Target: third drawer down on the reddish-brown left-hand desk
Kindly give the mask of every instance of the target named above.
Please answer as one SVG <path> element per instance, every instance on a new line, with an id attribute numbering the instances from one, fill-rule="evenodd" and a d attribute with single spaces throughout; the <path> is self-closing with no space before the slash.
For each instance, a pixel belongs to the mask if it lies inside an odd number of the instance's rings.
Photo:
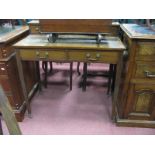
<path id="1" fill-rule="evenodd" d="M 3 87 L 5 92 L 11 92 L 11 85 L 7 77 L 0 77 L 0 84 Z"/>

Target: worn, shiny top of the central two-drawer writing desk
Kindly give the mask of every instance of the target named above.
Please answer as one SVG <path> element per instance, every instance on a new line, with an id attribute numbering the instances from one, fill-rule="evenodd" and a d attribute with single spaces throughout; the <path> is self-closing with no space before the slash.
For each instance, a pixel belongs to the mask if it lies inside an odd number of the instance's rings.
<path id="1" fill-rule="evenodd" d="M 49 43 L 47 35 L 29 35 L 14 44 L 15 48 L 60 48 L 60 49 L 96 49 L 96 50 L 124 50 L 125 46 L 118 37 L 105 37 L 100 44 L 96 44 L 94 36 L 60 35 L 55 43 Z M 74 37 L 74 38 L 73 38 Z"/>

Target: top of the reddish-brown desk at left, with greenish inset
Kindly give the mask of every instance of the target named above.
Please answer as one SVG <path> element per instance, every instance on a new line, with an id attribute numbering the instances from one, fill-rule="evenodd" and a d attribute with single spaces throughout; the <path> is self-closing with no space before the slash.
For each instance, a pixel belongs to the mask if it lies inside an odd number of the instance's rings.
<path id="1" fill-rule="evenodd" d="M 0 44 L 8 43 L 28 30 L 28 26 L 15 26 L 14 29 L 11 26 L 0 27 Z"/>

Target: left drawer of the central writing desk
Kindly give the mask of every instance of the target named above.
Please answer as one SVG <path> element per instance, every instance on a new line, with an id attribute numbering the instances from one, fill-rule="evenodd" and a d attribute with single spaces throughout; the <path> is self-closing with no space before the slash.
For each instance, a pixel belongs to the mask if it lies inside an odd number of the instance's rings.
<path id="1" fill-rule="evenodd" d="M 66 52 L 60 50 L 20 50 L 20 56 L 23 60 L 67 60 Z"/>

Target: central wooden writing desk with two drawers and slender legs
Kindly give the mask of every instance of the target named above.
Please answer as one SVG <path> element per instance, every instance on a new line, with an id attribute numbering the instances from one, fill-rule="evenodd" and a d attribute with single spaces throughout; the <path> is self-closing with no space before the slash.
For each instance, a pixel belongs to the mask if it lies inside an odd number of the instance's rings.
<path id="1" fill-rule="evenodd" d="M 63 62 L 95 62 L 117 64 L 116 84 L 113 95 L 112 113 L 115 116 L 115 105 L 118 101 L 120 75 L 122 71 L 124 45 L 118 37 L 105 37 L 100 44 L 91 36 L 61 36 L 55 43 L 49 43 L 46 35 L 29 35 L 14 45 L 17 64 L 28 113 L 31 108 L 24 81 L 22 61 L 63 61 Z M 95 104 L 95 103 L 94 103 Z M 119 107 L 118 107 L 119 108 Z"/>

